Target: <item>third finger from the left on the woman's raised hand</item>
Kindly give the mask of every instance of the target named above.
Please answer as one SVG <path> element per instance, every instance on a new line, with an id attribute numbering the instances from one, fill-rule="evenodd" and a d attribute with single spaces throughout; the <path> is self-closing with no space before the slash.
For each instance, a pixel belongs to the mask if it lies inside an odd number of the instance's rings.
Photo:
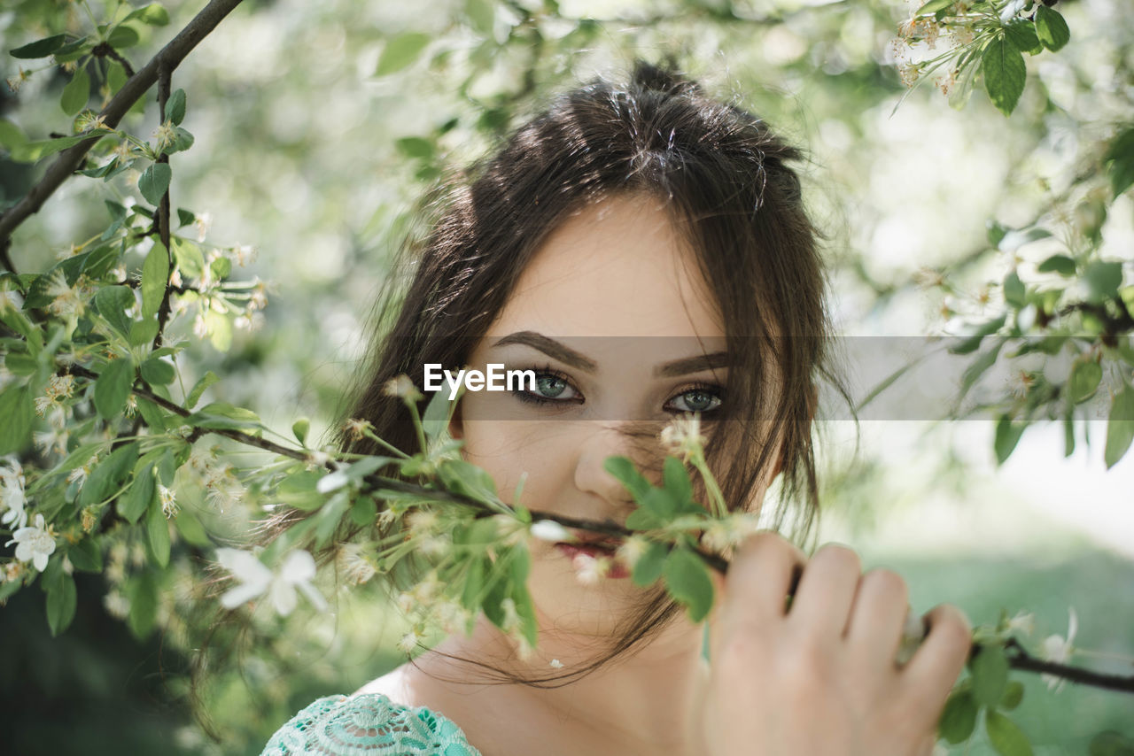
<path id="1" fill-rule="evenodd" d="M 847 622 L 847 644 L 869 669 L 892 664 L 909 611 L 909 589 L 897 572 L 873 569 L 862 576 Z"/>

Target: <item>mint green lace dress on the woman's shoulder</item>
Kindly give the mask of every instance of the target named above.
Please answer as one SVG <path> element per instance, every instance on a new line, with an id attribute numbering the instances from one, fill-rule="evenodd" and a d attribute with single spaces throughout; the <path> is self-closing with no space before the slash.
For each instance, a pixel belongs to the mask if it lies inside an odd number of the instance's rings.
<path id="1" fill-rule="evenodd" d="M 324 696 L 281 727 L 260 756 L 481 756 L 450 720 L 380 693 Z"/>

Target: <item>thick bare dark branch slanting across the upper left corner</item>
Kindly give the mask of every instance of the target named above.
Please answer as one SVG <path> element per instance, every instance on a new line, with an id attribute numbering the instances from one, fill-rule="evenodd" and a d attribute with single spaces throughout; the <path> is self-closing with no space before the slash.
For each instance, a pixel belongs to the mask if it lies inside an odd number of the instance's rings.
<path id="1" fill-rule="evenodd" d="M 160 69 L 172 71 L 181 60 L 197 45 L 228 14 L 240 5 L 240 0 L 211 0 L 169 44 L 161 49 L 150 62 L 127 79 L 99 116 L 103 122 L 116 128 L 122 116 L 137 102 L 158 80 Z M 48 197 L 54 194 L 64 181 L 82 164 L 83 158 L 101 138 L 102 134 L 93 134 L 85 139 L 59 153 L 39 184 L 32 187 L 27 195 L 14 207 L 0 215 L 0 249 L 6 249 L 12 231 L 25 220 L 40 211 Z M 5 264 L 8 264 L 5 260 Z M 8 270 L 11 270 L 9 266 Z"/>

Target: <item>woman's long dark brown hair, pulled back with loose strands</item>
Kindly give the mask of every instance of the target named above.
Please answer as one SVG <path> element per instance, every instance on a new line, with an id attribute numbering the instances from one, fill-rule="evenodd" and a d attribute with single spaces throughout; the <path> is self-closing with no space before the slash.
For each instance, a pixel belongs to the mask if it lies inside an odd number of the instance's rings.
<path id="1" fill-rule="evenodd" d="M 778 466 L 772 521 L 781 526 L 794 513 L 797 534 L 806 535 L 819 508 L 812 418 L 830 329 L 822 236 L 789 167 L 802 158 L 759 117 L 709 96 L 672 62 L 636 61 L 625 84 L 600 78 L 560 94 L 418 209 L 432 214 L 430 230 L 403 247 L 408 286 L 395 283 L 383 297 L 349 417 L 417 451 L 411 418 L 383 391 L 387 382 L 406 374 L 420 389 L 425 363 L 464 365 L 553 229 L 587 203 L 645 193 L 679 221 L 723 317 L 723 418 L 737 422 L 714 424 L 706 457 L 726 501 L 751 506 Z M 773 385 L 779 390 L 769 391 Z M 350 450 L 382 453 L 365 442 Z M 660 592 L 651 595 L 593 663 L 525 681 L 569 681 L 636 646 L 675 611 Z"/>

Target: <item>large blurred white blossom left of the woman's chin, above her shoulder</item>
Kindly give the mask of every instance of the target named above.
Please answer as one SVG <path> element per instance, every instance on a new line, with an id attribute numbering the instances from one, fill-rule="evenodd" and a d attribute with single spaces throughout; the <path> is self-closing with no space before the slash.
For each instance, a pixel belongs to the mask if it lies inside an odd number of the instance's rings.
<path id="1" fill-rule="evenodd" d="M 299 588 L 315 609 L 327 610 L 327 602 L 311 585 L 312 578 L 315 577 L 315 560 L 306 551 L 293 551 L 288 554 L 278 574 L 272 572 L 251 551 L 218 549 L 217 561 L 240 581 L 220 597 L 225 609 L 236 609 L 266 593 L 276 611 L 286 617 L 295 610 L 297 601 L 295 589 Z"/>

